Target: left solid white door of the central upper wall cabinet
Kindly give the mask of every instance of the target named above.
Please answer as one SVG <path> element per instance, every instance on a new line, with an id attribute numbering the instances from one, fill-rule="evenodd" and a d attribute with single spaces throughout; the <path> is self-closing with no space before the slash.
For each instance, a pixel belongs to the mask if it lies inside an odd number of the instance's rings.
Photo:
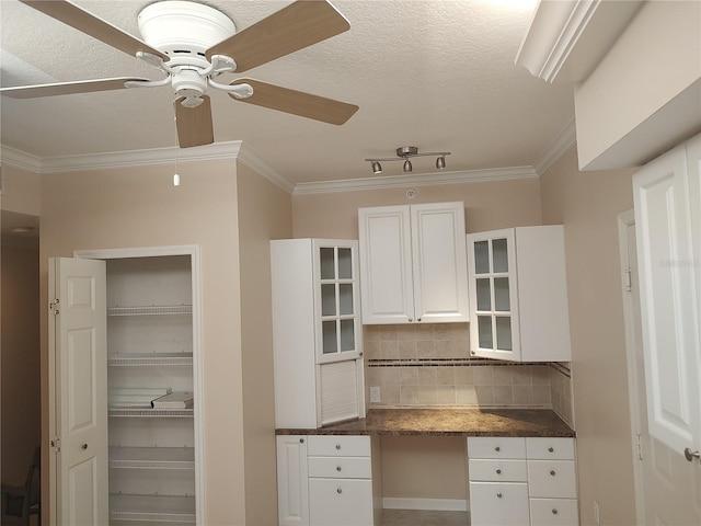
<path id="1" fill-rule="evenodd" d="M 414 319 L 409 206 L 358 209 L 363 323 Z"/>

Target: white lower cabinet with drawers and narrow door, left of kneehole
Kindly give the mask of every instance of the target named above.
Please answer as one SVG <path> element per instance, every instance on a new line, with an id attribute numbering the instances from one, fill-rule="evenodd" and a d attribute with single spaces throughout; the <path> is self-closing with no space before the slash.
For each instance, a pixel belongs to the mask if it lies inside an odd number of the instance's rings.
<path id="1" fill-rule="evenodd" d="M 379 524 L 378 460 L 379 439 L 370 436 L 278 435 L 279 525 Z"/>

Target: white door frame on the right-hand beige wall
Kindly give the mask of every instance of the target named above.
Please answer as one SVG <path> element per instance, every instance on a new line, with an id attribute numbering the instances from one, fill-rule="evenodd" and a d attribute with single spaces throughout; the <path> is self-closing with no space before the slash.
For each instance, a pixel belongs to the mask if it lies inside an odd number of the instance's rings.
<path id="1" fill-rule="evenodd" d="M 618 215 L 618 241 L 620 251 L 620 270 L 621 270 L 621 294 L 623 295 L 623 321 L 625 327 L 625 358 L 628 364 L 628 399 L 631 416 L 631 451 L 633 455 L 633 488 L 635 491 L 635 523 L 642 524 L 645 514 L 643 507 L 643 470 L 639 457 L 641 422 L 639 419 L 641 400 L 637 397 L 640 392 L 637 378 L 639 371 L 635 365 L 635 323 L 633 298 L 629 294 L 628 284 L 631 279 L 630 275 L 630 258 L 636 258 L 636 254 L 628 252 L 628 228 L 635 225 L 635 213 L 633 209 L 623 211 Z M 640 342 L 642 345 L 642 342 Z M 644 375 L 644 371 L 643 371 Z"/>

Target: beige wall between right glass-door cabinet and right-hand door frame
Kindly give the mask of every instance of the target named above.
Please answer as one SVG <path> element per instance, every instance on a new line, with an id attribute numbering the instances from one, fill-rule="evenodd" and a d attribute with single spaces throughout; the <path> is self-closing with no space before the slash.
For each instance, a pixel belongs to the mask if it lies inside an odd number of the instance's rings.
<path id="1" fill-rule="evenodd" d="M 543 222 L 565 225 L 582 524 L 635 524 L 619 213 L 631 170 L 579 172 L 573 147 L 541 176 Z"/>

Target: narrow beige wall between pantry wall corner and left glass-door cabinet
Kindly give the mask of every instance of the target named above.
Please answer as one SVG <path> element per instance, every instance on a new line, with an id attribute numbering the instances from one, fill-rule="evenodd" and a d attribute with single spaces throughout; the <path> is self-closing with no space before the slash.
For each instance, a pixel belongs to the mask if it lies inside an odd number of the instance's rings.
<path id="1" fill-rule="evenodd" d="M 291 197 L 239 162 L 245 523 L 277 523 L 271 239 L 291 237 Z"/>

